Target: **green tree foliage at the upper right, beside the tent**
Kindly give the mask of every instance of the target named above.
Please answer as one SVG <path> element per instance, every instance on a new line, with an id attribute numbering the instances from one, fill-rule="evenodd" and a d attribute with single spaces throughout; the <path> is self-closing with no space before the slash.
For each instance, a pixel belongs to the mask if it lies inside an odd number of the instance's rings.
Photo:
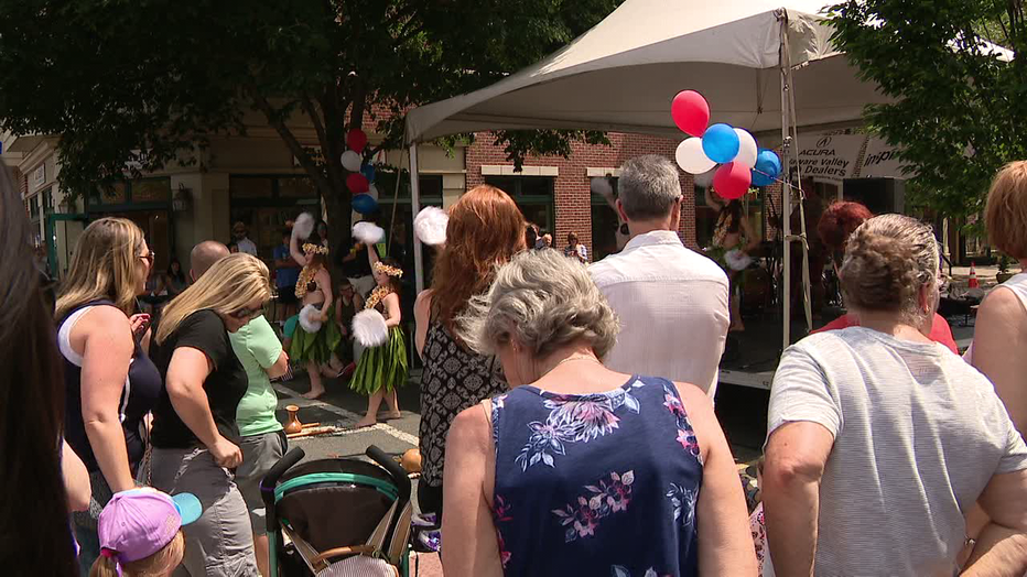
<path id="1" fill-rule="evenodd" d="M 916 204 L 942 216 L 976 213 L 998 168 L 1027 159 L 1025 15 L 1023 0 L 848 0 L 830 9 L 839 48 L 896 99 L 865 118 L 901 148 Z"/>

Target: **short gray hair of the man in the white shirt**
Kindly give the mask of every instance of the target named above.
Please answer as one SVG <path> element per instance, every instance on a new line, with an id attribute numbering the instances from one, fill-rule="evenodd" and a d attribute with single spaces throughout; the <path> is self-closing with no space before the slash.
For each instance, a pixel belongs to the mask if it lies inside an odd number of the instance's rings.
<path id="1" fill-rule="evenodd" d="M 620 167 L 617 198 L 631 220 L 662 218 L 681 197 L 678 167 L 657 154 L 637 156 Z"/>

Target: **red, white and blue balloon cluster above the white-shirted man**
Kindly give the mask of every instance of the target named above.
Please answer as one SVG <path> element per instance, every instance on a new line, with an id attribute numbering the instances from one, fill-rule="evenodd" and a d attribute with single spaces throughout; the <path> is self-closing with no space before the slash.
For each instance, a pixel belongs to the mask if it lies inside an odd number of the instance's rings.
<path id="1" fill-rule="evenodd" d="M 727 124 L 711 127 L 710 105 L 701 94 L 678 92 L 670 116 L 678 128 L 692 137 L 678 144 L 674 152 L 678 166 L 698 175 L 696 181 L 712 182 L 720 196 L 728 200 L 740 198 L 749 186 L 767 186 L 781 174 L 781 159 L 771 150 L 758 148 L 747 130 Z"/>

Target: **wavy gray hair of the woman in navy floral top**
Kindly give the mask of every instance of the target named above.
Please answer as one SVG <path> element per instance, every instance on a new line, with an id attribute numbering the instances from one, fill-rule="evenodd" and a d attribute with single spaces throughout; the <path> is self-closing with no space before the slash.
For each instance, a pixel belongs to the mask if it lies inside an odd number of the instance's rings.
<path id="1" fill-rule="evenodd" d="M 579 339 L 602 359 L 620 330 L 585 265 L 555 250 L 515 255 L 487 293 L 471 298 L 456 324 L 464 342 L 482 355 L 517 341 L 538 359 Z"/>

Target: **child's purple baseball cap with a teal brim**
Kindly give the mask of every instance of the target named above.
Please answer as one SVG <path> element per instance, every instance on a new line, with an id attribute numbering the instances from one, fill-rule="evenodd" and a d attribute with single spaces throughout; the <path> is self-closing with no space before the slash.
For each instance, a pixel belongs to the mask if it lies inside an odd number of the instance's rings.
<path id="1" fill-rule="evenodd" d="M 100 552 L 118 563 L 144 559 L 164 548 L 179 529 L 199 519 L 203 505 L 192 493 L 174 497 L 155 489 L 115 493 L 100 512 Z"/>

